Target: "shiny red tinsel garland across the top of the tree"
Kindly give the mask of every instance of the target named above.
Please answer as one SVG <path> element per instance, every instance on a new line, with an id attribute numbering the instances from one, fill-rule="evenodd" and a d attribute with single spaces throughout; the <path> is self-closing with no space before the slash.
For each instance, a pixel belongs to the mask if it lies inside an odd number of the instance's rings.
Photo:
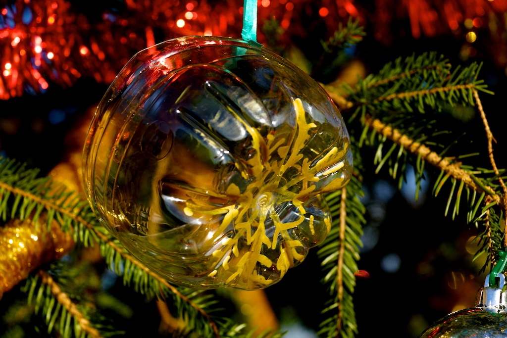
<path id="1" fill-rule="evenodd" d="M 93 24 L 64 0 L 16 0 L 0 7 L 0 98 L 43 92 L 52 83 L 71 86 L 81 76 L 110 83 L 135 52 L 156 40 L 241 36 L 243 0 L 125 0 L 120 6 L 97 9 L 102 20 Z M 506 11 L 507 0 L 376 0 L 373 13 L 354 0 L 259 0 L 259 27 L 274 18 L 284 31 L 280 43 L 289 44 L 294 36 L 308 38 L 317 25 L 331 35 L 353 16 L 372 24 L 375 38 L 389 44 L 392 22 L 408 18 L 416 39 L 452 32 L 469 34 L 473 43 L 476 31 L 486 29 L 498 49 L 507 45 Z M 266 40 L 260 32 L 259 41 Z M 473 47 L 465 51 L 473 56 Z M 505 56 L 496 61 L 507 64 Z"/>

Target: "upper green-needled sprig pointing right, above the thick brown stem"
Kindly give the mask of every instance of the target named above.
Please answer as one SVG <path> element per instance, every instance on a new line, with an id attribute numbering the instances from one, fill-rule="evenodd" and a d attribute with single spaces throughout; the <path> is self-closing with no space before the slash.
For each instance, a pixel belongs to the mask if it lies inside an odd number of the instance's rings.
<path id="1" fill-rule="evenodd" d="M 354 110 L 349 121 L 358 114 L 376 118 L 401 112 L 442 111 L 446 105 L 473 105 L 473 91 L 491 93 L 477 76 L 481 64 L 451 69 L 447 60 L 436 53 L 411 56 L 388 63 L 378 73 L 359 79 L 354 87 L 324 87 L 342 112 Z"/>

